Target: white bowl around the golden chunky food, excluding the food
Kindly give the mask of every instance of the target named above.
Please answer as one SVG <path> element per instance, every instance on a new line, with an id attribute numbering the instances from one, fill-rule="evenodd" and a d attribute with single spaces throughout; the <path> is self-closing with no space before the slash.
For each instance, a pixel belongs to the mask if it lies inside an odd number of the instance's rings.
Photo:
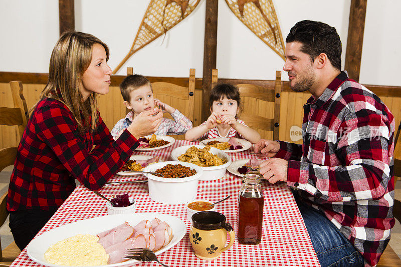
<path id="1" fill-rule="evenodd" d="M 192 145 L 187 145 L 187 146 L 180 146 L 175 148 L 173 151 L 171 151 L 171 158 L 174 161 L 182 162 L 178 160 L 178 157 L 186 152 L 188 148 L 192 147 Z M 205 147 L 204 145 L 195 145 L 194 147 L 196 148 L 203 148 Z M 200 167 L 204 170 L 203 175 L 199 178 L 201 181 L 209 181 L 209 180 L 217 180 L 220 179 L 224 176 L 226 173 L 226 169 L 228 166 L 231 164 L 231 158 L 230 156 L 223 152 L 220 149 L 217 149 L 215 147 L 211 147 L 209 150 L 210 153 L 217 155 L 218 157 L 222 159 L 227 159 L 227 162 L 224 163 L 223 165 L 220 166 L 214 166 L 214 167 Z"/>

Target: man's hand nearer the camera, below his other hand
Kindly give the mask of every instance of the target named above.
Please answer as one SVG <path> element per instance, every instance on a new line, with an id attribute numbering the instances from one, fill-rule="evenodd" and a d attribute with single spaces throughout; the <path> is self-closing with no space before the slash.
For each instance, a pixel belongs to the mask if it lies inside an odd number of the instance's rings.
<path id="1" fill-rule="evenodd" d="M 259 172 L 269 183 L 287 181 L 288 161 L 281 158 L 271 158 L 260 164 Z"/>

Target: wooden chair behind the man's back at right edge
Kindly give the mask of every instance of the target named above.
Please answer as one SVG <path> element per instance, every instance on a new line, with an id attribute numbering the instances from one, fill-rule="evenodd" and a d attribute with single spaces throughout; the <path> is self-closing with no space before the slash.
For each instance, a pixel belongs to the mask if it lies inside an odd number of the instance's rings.
<path id="1" fill-rule="evenodd" d="M 400 124 L 401 125 L 401 124 Z M 394 147 L 394 176 L 395 179 L 397 177 L 401 177 L 401 140 L 399 140 L 399 133 L 401 131 L 401 127 L 398 127 L 397 133 L 395 134 L 395 147 Z M 394 181 L 395 184 L 396 180 Z M 394 206 L 392 207 L 392 215 L 395 219 L 401 222 L 401 201 L 398 199 L 394 200 Z M 395 253 L 395 251 L 391 248 L 390 245 L 387 245 L 383 254 L 380 257 L 380 260 L 377 264 L 379 267 L 389 267 L 389 266 L 401 266 L 401 259 Z"/>

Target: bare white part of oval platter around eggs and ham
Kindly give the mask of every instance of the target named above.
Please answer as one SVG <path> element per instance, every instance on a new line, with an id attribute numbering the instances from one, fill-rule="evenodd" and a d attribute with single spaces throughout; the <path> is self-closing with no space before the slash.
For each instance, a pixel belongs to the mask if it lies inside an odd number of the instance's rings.
<path id="1" fill-rule="evenodd" d="M 150 212 L 107 215 L 107 216 L 100 216 L 91 219 L 68 223 L 60 227 L 51 229 L 50 231 L 47 231 L 34 238 L 28 244 L 27 253 L 32 260 L 40 264 L 51 267 L 65 267 L 57 264 L 48 263 L 44 258 L 46 250 L 52 244 L 64 240 L 67 237 L 71 237 L 80 233 L 81 234 L 89 233 L 96 235 L 97 233 L 116 227 L 124 223 L 125 221 L 127 221 L 130 225 L 134 226 L 141 220 L 145 219 L 151 220 L 155 217 L 159 218 L 162 221 L 167 222 L 171 226 L 173 234 L 171 241 L 165 247 L 155 252 L 155 254 L 158 255 L 166 251 L 167 249 L 171 248 L 172 246 L 174 246 L 182 239 L 182 237 L 184 237 L 186 233 L 186 225 L 182 220 L 178 219 L 177 217 L 167 214 L 150 213 Z M 122 266 L 128 264 L 132 265 L 132 264 L 137 264 L 139 262 L 140 261 L 131 259 L 120 263 L 101 265 L 101 267 Z"/>

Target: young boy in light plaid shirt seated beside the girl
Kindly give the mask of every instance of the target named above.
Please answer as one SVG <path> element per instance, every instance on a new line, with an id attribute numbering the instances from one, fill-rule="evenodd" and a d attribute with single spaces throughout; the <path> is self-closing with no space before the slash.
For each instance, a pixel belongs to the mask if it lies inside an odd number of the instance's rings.
<path id="1" fill-rule="evenodd" d="M 192 128 L 192 122 L 177 109 L 153 98 L 153 90 L 148 79 L 142 75 L 127 76 L 120 84 L 120 91 L 127 109 L 132 109 L 125 118 L 119 120 L 111 130 L 111 135 L 117 139 L 121 132 L 131 125 L 133 118 L 142 111 L 153 109 L 155 106 L 164 107 L 163 112 L 171 114 L 174 120 L 162 118 L 156 135 L 184 134 Z"/>

